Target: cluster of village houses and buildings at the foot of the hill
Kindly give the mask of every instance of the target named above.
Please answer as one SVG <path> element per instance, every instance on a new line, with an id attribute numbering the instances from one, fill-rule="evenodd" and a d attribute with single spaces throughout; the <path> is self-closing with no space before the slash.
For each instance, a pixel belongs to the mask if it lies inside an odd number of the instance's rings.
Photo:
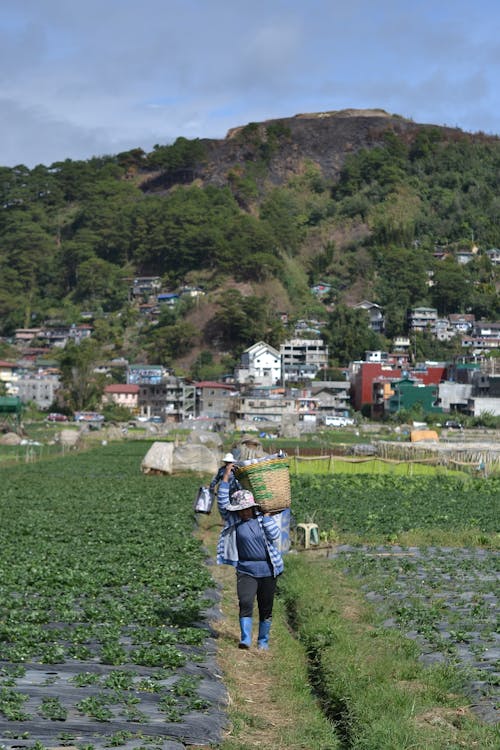
<path id="1" fill-rule="evenodd" d="M 311 293 L 321 297 L 327 286 L 315 285 Z M 204 294 L 196 287 L 163 292 L 159 277 L 134 278 L 130 288 L 131 299 L 148 316 L 162 305 L 176 305 L 184 295 Z M 373 331 L 384 332 L 380 305 L 363 300 L 353 307 L 367 311 Z M 288 324 L 286 314 L 283 323 Z M 243 351 L 234 371 L 217 381 L 178 377 L 154 362 L 101 362 L 94 370 L 102 376 L 102 397 L 93 407 L 115 404 L 141 421 L 202 418 L 221 427 L 250 425 L 272 431 L 284 423 L 289 429 L 345 426 L 354 424 L 356 416 L 386 419 L 415 409 L 425 418 L 500 416 L 500 367 L 498 359 L 488 356 L 500 349 L 500 321 L 476 321 L 460 313 L 443 317 L 435 308 L 412 308 L 408 335 L 394 338 L 390 352 L 366 351 L 364 359 L 346 363 L 339 380 L 329 377 L 332 352 L 322 337 L 323 326 L 322 320 L 302 319 L 288 326 L 289 336 L 279 347 L 256 341 Z M 417 332 L 436 340 L 455 339 L 462 353 L 452 361 L 417 362 L 411 348 Z M 67 412 L 54 355 L 92 333 L 91 322 L 17 329 L 11 340 L 16 360 L 0 361 L 4 401 L 34 404 L 47 413 Z"/>

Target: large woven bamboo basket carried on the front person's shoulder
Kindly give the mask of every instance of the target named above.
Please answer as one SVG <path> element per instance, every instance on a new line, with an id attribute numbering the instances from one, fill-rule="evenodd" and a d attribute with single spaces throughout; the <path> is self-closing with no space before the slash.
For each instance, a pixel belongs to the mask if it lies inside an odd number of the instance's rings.
<path id="1" fill-rule="evenodd" d="M 290 471 L 286 459 L 270 458 L 248 466 L 235 466 L 234 473 L 265 513 L 277 513 L 290 507 Z"/>

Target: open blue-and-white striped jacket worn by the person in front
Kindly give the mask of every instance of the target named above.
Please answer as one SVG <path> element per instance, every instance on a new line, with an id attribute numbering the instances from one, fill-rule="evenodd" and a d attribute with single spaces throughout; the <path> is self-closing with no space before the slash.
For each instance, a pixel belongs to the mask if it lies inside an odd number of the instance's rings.
<path id="1" fill-rule="evenodd" d="M 221 482 L 217 496 L 217 505 L 219 512 L 224 520 L 224 528 L 217 542 L 217 564 L 234 565 L 238 564 L 238 545 L 236 543 L 236 527 L 241 523 L 237 511 L 228 510 L 229 505 L 229 482 Z M 264 535 L 269 559 L 273 568 L 274 577 L 283 572 L 283 558 L 281 553 L 274 546 L 274 542 L 280 537 L 280 530 L 272 516 L 264 516 L 262 513 L 257 515 L 259 526 Z"/>

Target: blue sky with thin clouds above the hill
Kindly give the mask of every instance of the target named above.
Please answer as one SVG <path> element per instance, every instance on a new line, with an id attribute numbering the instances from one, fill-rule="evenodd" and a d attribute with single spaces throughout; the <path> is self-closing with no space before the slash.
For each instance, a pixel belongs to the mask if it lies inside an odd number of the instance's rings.
<path id="1" fill-rule="evenodd" d="M 0 0 L 0 166 L 381 108 L 500 135 L 498 0 Z"/>

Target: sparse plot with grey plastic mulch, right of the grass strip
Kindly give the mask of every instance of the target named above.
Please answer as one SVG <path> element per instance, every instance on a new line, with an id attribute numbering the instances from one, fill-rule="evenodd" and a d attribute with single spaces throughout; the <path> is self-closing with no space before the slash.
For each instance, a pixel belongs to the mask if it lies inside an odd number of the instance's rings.
<path id="1" fill-rule="evenodd" d="M 458 667 L 476 712 L 498 721 L 498 552 L 345 545 L 332 558 L 363 582 L 384 627 L 416 641 L 423 663 Z"/>

